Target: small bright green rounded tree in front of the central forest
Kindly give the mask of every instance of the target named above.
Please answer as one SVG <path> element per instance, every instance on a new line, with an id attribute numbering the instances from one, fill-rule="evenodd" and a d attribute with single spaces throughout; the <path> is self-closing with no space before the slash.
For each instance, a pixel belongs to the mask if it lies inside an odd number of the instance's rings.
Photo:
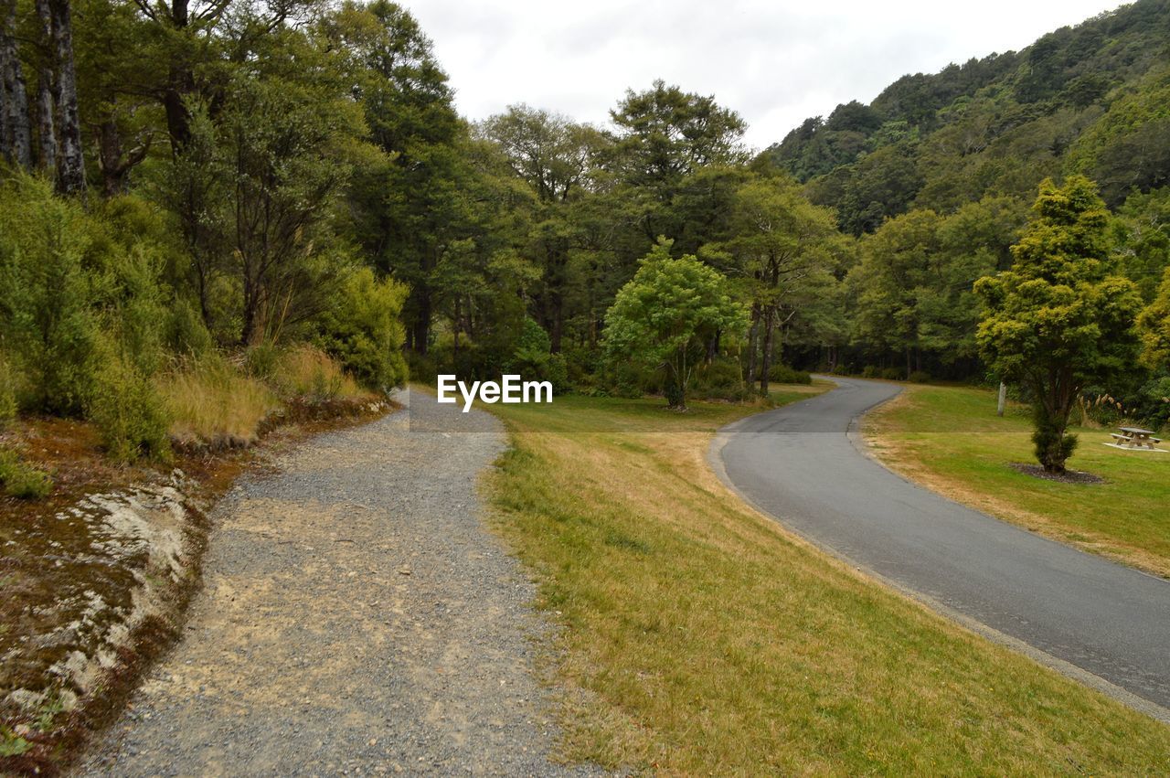
<path id="1" fill-rule="evenodd" d="M 672 259 L 672 243 L 660 237 L 618 291 L 605 316 L 605 347 L 612 360 L 665 367 L 667 402 L 681 411 L 704 344 L 716 332 L 742 333 L 746 312 L 722 274 L 690 255 Z"/>

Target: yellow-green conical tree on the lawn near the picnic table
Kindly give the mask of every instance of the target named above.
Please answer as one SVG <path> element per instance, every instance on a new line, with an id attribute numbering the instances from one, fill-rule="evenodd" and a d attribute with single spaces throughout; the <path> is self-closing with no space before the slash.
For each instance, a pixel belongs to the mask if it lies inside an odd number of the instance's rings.
<path id="1" fill-rule="evenodd" d="M 976 282 L 986 311 L 979 350 L 1005 380 L 1033 398 L 1035 455 L 1064 473 L 1076 446 L 1066 434 L 1081 388 L 1133 369 L 1137 356 L 1137 288 L 1113 275 L 1109 214 L 1096 186 L 1071 177 L 1040 185 L 1033 220 L 1012 247 L 1014 264 Z"/>

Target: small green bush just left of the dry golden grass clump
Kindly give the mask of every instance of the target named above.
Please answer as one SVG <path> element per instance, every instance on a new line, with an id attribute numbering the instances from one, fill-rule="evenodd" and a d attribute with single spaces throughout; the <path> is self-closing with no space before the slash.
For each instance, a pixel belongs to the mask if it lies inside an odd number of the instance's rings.
<path id="1" fill-rule="evenodd" d="M 126 358 L 105 360 L 88 406 L 87 415 L 97 425 L 110 457 L 170 459 L 170 418 L 163 398 Z"/>

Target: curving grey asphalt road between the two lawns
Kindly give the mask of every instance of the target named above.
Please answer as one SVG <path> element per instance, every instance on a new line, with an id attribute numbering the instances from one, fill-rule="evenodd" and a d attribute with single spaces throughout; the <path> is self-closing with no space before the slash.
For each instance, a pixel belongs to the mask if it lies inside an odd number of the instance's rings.
<path id="1" fill-rule="evenodd" d="M 814 543 L 944 610 L 1170 708 L 1170 581 L 894 475 L 846 431 L 899 388 L 834 380 L 839 387 L 827 394 L 724 428 L 713 455 L 734 488 Z"/>

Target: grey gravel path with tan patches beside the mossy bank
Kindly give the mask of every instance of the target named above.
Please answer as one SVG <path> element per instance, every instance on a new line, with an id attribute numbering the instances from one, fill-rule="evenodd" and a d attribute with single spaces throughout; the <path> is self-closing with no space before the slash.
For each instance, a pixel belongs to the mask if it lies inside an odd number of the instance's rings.
<path id="1" fill-rule="evenodd" d="M 215 510 L 205 588 L 81 774 L 583 774 L 532 669 L 534 588 L 480 522 L 500 424 L 415 393 Z"/>

